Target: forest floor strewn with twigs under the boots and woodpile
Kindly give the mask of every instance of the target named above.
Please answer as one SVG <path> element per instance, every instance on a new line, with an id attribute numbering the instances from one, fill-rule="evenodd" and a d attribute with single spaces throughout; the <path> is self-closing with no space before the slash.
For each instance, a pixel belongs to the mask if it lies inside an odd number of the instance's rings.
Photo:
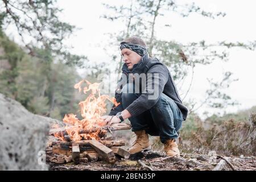
<path id="1" fill-rule="evenodd" d="M 150 151 L 147 154 L 131 155 L 129 159 L 123 159 L 116 156 L 116 162 L 109 164 L 103 160 L 96 162 L 80 162 L 75 165 L 73 162 L 59 162 L 59 155 L 53 154 L 51 148 L 47 148 L 47 164 L 51 171 L 78 170 L 78 171 L 137 171 L 137 170 L 156 170 L 156 171 L 205 171 L 205 170 L 228 170 L 232 171 L 255 171 L 256 156 L 220 156 L 205 154 L 181 154 L 179 158 L 168 157 L 161 152 Z M 214 154 L 214 152 L 213 152 Z M 228 163 L 226 162 L 226 160 Z M 54 161 L 54 162 L 53 162 Z M 59 164 L 58 164 L 59 163 Z"/>

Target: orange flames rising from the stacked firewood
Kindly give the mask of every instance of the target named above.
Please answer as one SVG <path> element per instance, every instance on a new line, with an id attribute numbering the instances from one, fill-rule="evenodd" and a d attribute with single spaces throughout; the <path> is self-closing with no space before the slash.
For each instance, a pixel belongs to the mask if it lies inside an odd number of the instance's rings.
<path id="1" fill-rule="evenodd" d="M 84 82 L 88 86 L 84 86 L 84 88 L 82 88 L 82 84 Z M 80 82 L 74 85 L 74 88 L 79 89 L 79 92 L 83 90 L 84 94 L 88 93 L 89 91 L 91 91 L 91 93 L 84 101 L 79 102 L 81 116 L 83 119 L 78 119 L 75 114 L 65 114 L 63 118 L 63 122 L 69 125 L 65 128 L 65 134 L 67 134 L 70 140 L 100 140 L 100 127 L 106 125 L 106 123 L 101 119 L 101 115 L 106 113 L 105 101 L 109 100 L 114 104 L 115 107 L 120 104 L 117 103 L 114 97 L 110 99 L 109 96 L 101 96 L 100 89 L 98 89 L 99 86 L 99 83 L 96 82 L 94 84 L 91 84 L 87 80 L 81 80 Z M 97 131 L 93 130 L 97 128 Z M 86 130 L 89 132 L 80 134 L 81 130 Z M 63 141 L 65 140 L 65 136 L 63 136 L 62 132 L 56 133 L 55 137 L 60 138 Z"/>

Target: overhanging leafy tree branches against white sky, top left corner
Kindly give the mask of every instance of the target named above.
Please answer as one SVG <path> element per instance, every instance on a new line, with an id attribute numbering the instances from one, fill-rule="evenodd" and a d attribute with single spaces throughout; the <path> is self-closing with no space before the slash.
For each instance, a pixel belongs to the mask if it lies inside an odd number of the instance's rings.
<path id="1" fill-rule="evenodd" d="M 7 25 L 13 25 L 30 55 L 40 57 L 41 51 L 46 51 L 48 53 L 44 55 L 55 56 L 55 59 L 65 64 L 83 65 L 83 61 L 87 58 L 73 55 L 69 52 L 70 47 L 63 43 L 76 27 L 59 19 L 62 10 L 57 7 L 56 0 L 12 2 L 2 0 L 0 3 L 1 32 Z"/>

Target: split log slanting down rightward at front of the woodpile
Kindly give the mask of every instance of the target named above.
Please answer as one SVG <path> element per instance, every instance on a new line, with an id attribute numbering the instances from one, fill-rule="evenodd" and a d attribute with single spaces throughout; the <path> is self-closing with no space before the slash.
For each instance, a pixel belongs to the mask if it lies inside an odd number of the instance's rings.
<path id="1" fill-rule="evenodd" d="M 115 163 L 115 156 L 113 150 L 106 147 L 104 144 L 98 142 L 97 140 L 90 140 L 90 145 L 98 152 L 102 159 L 109 163 Z"/>

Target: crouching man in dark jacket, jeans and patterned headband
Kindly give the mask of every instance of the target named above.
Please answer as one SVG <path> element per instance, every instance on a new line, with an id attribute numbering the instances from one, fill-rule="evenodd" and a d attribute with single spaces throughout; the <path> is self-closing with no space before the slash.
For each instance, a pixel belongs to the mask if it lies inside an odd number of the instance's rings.
<path id="1" fill-rule="evenodd" d="M 102 118 L 109 125 L 129 118 L 137 136 L 129 150 L 131 154 L 151 149 L 150 134 L 160 136 L 167 155 L 180 156 L 177 132 L 188 110 L 180 100 L 170 72 L 158 59 L 148 56 L 146 43 L 137 36 L 121 42 L 120 49 L 125 62 L 115 91 L 120 104 Z M 138 84 L 144 75 L 146 80 Z"/>

